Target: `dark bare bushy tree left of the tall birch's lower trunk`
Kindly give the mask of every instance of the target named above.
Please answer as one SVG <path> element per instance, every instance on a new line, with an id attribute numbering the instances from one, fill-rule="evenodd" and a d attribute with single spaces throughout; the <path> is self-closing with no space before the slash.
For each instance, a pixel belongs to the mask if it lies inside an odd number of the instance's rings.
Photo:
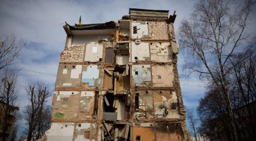
<path id="1" fill-rule="evenodd" d="M 223 134 L 227 135 L 227 139 L 231 140 L 231 130 L 229 118 L 226 116 L 227 110 L 225 102 L 220 99 L 221 94 L 216 87 L 208 88 L 205 96 L 200 99 L 197 113 L 200 118 L 200 134 L 209 138 L 221 140 Z M 215 130 L 215 128 L 218 130 Z"/>

